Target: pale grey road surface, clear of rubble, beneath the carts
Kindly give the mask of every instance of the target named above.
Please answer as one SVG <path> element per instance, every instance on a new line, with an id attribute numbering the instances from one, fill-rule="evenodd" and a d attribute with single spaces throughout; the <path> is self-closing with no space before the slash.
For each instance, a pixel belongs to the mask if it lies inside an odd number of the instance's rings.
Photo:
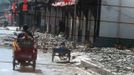
<path id="1" fill-rule="evenodd" d="M 17 66 L 12 70 L 12 49 L 0 48 L 0 75 L 91 75 L 72 63 L 56 63 L 51 61 L 51 53 L 38 51 L 36 70 L 30 66 Z"/>

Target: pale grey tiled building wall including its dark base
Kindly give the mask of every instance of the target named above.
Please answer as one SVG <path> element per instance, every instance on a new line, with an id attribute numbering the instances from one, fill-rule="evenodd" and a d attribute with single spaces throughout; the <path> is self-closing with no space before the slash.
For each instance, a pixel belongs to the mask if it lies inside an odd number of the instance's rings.
<path id="1" fill-rule="evenodd" d="M 133 4 L 133 0 L 102 0 L 96 46 L 114 46 L 116 43 L 134 46 Z"/>

